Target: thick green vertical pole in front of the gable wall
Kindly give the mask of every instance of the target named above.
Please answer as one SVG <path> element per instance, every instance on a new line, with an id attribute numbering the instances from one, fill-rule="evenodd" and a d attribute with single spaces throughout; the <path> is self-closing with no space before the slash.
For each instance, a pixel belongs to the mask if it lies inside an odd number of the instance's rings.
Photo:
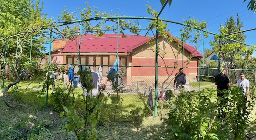
<path id="1" fill-rule="evenodd" d="M 158 100 L 158 21 L 156 23 L 156 68 L 155 68 L 155 112 L 154 117 L 157 117 L 157 100 Z"/>

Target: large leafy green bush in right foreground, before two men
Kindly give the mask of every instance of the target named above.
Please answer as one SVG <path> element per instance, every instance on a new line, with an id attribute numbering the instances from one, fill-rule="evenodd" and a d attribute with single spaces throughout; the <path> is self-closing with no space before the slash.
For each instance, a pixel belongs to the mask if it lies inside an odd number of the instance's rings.
<path id="1" fill-rule="evenodd" d="M 212 88 L 196 92 L 182 91 L 172 97 L 174 108 L 166 119 L 168 138 L 173 140 L 242 140 L 247 136 L 250 110 L 255 101 L 254 94 L 247 101 L 247 111 L 242 113 L 244 95 L 237 86 L 232 86 L 224 96 L 228 102 L 224 107 L 217 106 Z M 223 100 L 218 97 L 217 102 Z M 226 117 L 218 118 L 218 110 L 226 113 Z"/>

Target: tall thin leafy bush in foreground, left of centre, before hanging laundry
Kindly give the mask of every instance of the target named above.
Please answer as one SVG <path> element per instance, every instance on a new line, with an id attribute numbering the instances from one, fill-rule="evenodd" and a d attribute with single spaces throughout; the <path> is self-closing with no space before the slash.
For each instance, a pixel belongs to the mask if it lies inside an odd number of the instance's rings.
<path id="1" fill-rule="evenodd" d="M 78 71 L 80 75 L 81 83 L 83 85 L 84 92 L 81 93 L 84 99 L 84 108 L 82 112 L 78 113 L 76 110 L 76 103 L 73 100 L 71 106 L 64 106 L 64 111 L 60 113 L 62 121 L 68 121 L 64 126 L 64 129 L 70 132 L 74 132 L 79 140 L 93 139 L 96 140 L 95 128 L 98 120 L 100 120 L 100 112 L 98 111 L 104 94 L 102 90 L 98 96 L 90 96 L 90 91 L 95 88 L 95 85 L 91 83 L 94 79 L 94 75 L 87 71 Z M 84 94 L 86 92 L 86 94 Z M 74 97 L 74 95 L 73 95 Z"/>

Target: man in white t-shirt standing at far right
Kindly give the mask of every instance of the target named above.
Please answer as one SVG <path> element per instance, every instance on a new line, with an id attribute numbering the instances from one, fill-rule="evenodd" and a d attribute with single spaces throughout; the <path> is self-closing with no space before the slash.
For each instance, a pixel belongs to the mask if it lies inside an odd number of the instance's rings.
<path id="1" fill-rule="evenodd" d="M 250 81 L 245 78 L 245 75 L 243 73 L 240 73 L 240 79 L 237 81 L 237 86 L 239 88 L 242 88 L 243 94 L 244 94 L 244 102 L 242 104 L 243 106 L 243 116 L 245 115 L 246 110 L 246 101 L 247 101 L 247 95 L 249 94 L 249 88 L 250 88 Z"/>

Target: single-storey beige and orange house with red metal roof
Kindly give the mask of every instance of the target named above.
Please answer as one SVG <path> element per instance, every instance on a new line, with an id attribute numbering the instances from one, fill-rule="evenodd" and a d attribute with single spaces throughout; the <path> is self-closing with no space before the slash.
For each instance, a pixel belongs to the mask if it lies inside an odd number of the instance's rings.
<path id="1" fill-rule="evenodd" d="M 174 39 L 174 41 L 170 42 L 170 44 L 168 44 L 167 40 L 162 36 L 159 36 L 158 39 L 160 48 L 159 53 L 164 59 L 163 61 L 162 58 L 158 58 L 158 66 L 162 66 L 158 68 L 158 83 L 163 82 L 168 77 L 166 68 L 163 68 L 164 62 L 166 66 L 174 66 L 174 62 L 176 61 L 176 57 L 174 56 L 174 54 L 176 54 L 178 49 L 176 43 L 179 42 L 181 44 L 181 42 L 174 38 L 174 36 L 172 36 L 171 34 L 168 35 Z M 94 36 L 93 34 L 82 35 L 80 45 L 80 64 L 91 65 L 90 68 L 94 71 L 98 70 L 98 66 L 92 65 L 103 65 L 102 83 L 105 83 L 106 73 L 110 70 L 110 67 L 106 65 L 113 65 L 118 54 L 120 60 L 120 68 L 125 68 L 125 72 L 127 75 L 126 80 L 123 81 L 126 86 L 130 86 L 132 82 L 143 81 L 146 83 L 147 81 L 154 81 L 154 66 L 156 53 L 152 50 L 155 50 L 155 43 L 154 47 L 150 47 L 150 45 L 148 44 L 150 39 L 154 40 L 154 37 L 126 35 L 126 38 L 122 38 L 121 36 L 122 35 L 117 38 L 117 34 L 104 34 L 102 36 Z M 55 50 L 56 49 L 58 48 L 55 48 Z M 61 47 L 61 49 L 59 49 L 58 51 L 53 51 L 51 53 L 51 58 L 52 60 L 54 60 L 55 56 L 62 57 L 62 59 L 56 58 L 57 60 L 60 60 L 61 64 L 78 64 L 78 52 L 79 36 L 76 38 L 75 41 L 66 42 L 65 46 L 63 48 Z M 190 63 L 186 65 L 186 60 L 191 55 L 193 57 Z M 196 81 L 196 76 L 198 75 L 198 69 L 196 67 L 198 67 L 200 58 L 202 58 L 202 54 L 195 50 L 193 46 L 190 46 L 189 44 L 184 44 L 184 55 L 182 55 L 181 50 L 181 54 L 179 54 L 178 56 L 178 67 L 182 67 L 182 62 L 184 63 L 184 66 L 188 67 L 183 70 L 188 77 L 188 83 Z M 171 74 L 172 70 L 173 68 L 168 68 L 168 73 Z M 78 71 L 78 66 L 74 68 L 74 71 Z M 176 72 L 178 72 L 178 68 L 172 74 L 173 77 Z M 172 78 L 170 78 L 168 82 L 170 82 L 171 80 Z"/>

